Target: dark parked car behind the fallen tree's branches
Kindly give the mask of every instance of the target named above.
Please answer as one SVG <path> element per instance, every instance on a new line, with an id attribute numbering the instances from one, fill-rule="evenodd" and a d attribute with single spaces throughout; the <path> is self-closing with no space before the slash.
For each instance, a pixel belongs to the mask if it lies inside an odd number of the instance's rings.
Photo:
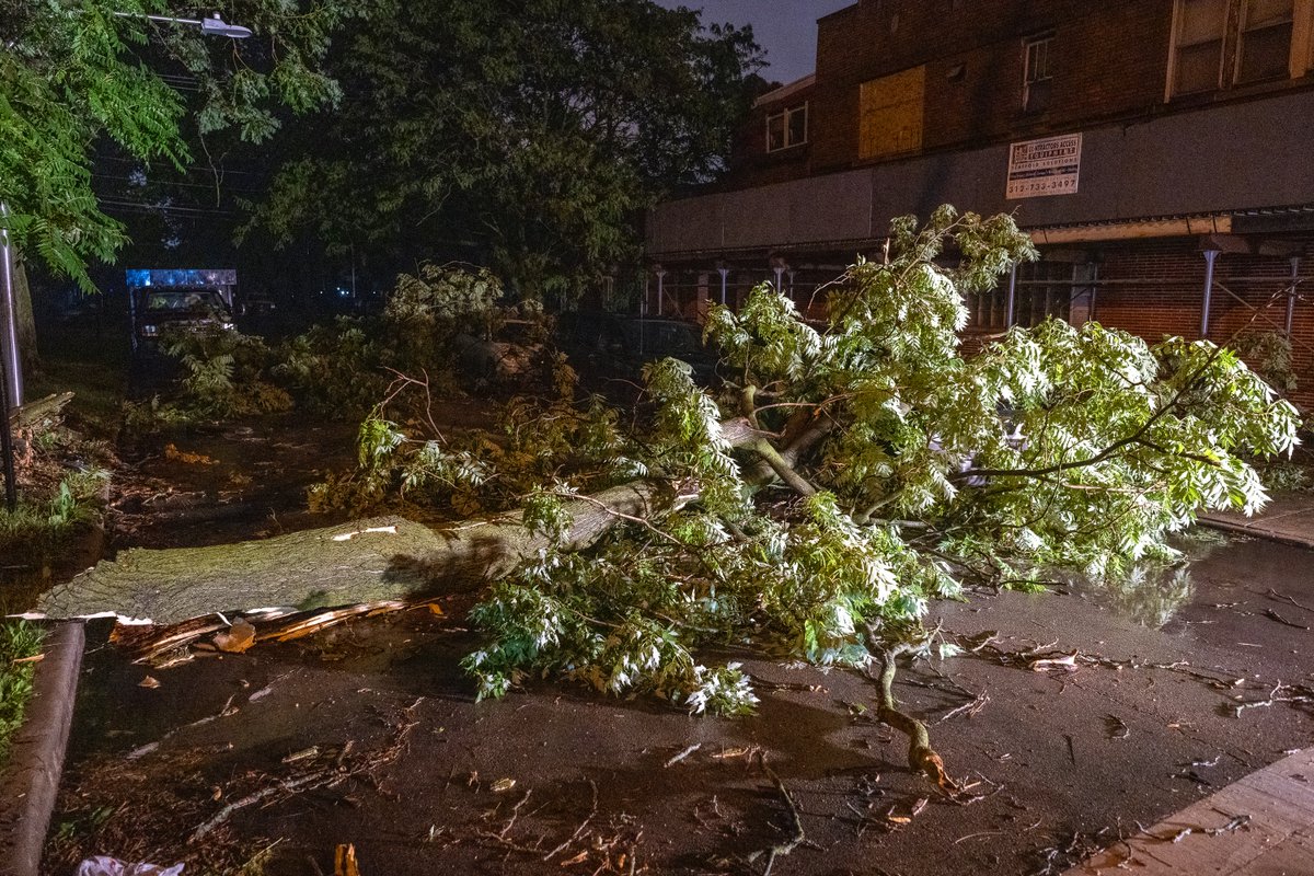
<path id="1" fill-rule="evenodd" d="M 696 323 L 682 319 L 603 311 L 561 314 L 557 345 L 590 378 L 639 380 L 645 364 L 666 357 L 687 362 L 698 383 L 716 378 L 716 352 L 703 344 Z"/>

